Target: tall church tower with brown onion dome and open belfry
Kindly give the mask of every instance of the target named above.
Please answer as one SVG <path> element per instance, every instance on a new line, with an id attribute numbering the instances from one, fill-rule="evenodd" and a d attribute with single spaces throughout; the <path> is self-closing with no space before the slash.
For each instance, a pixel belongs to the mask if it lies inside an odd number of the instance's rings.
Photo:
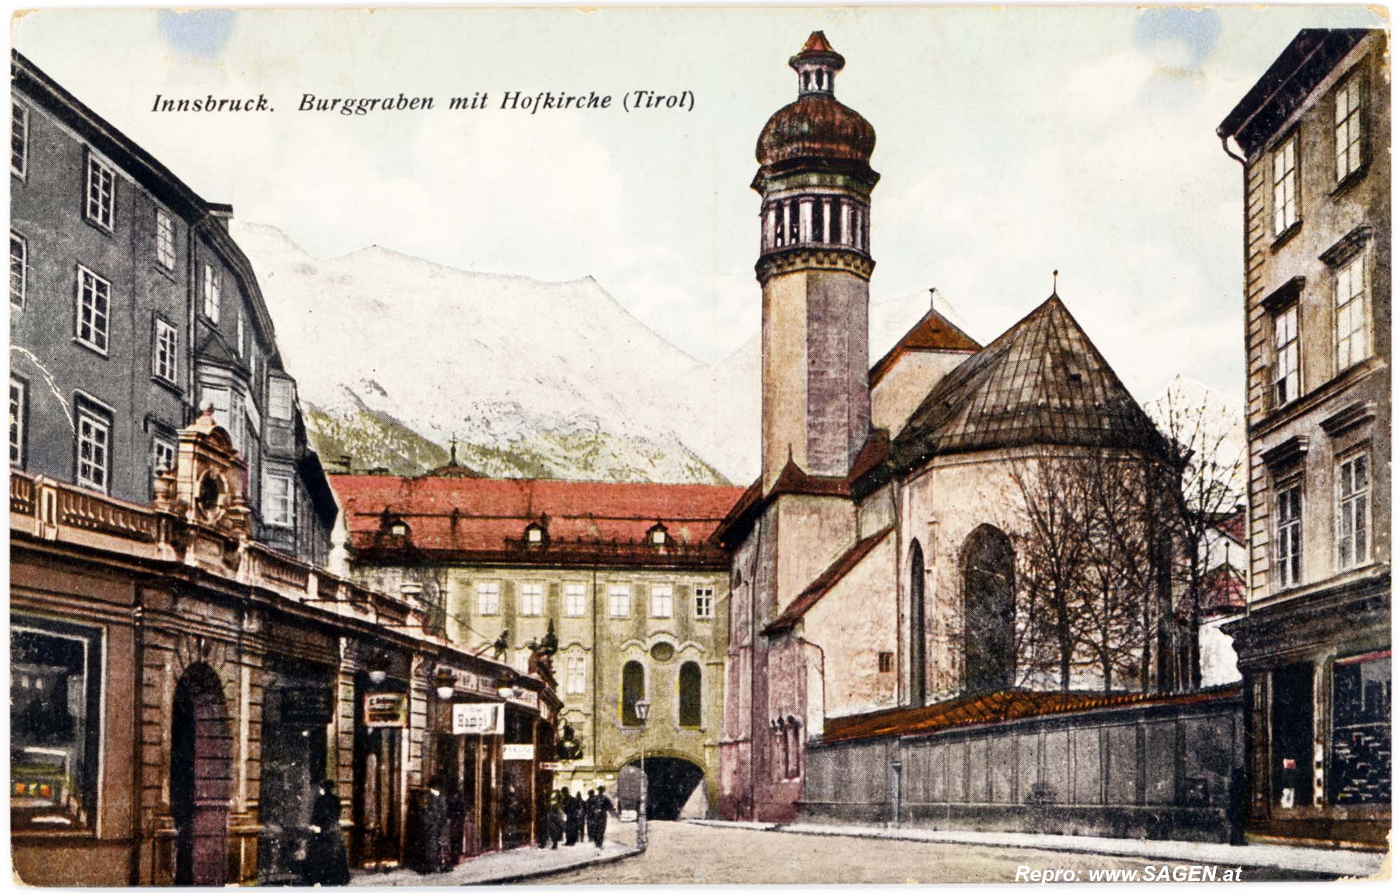
<path id="1" fill-rule="evenodd" d="M 758 137 L 762 491 L 790 458 L 838 477 L 870 432 L 870 169 L 874 129 L 835 99 L 845 59 L 813 32 L 789 61 L 797 99 Z"/>

